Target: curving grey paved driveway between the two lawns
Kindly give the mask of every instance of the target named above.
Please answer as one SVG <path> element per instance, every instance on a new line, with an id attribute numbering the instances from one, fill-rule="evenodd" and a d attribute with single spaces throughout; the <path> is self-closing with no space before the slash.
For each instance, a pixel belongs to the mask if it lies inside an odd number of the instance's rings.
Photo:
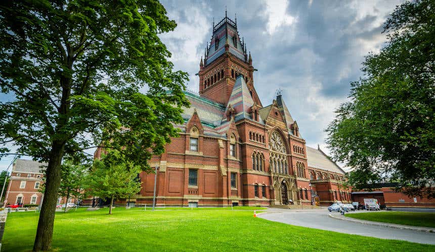
<path id="1" fill-rule="evenodd" d="M 330 213 L 327 210 L 302 211 L 271 208 L 268 213 L 260 214 L 258 217 L 296 226 L 318 228 L 340 233 L 435 244 L 435 233 L 364 225 L 350 221 L 336 220 L 330 218 L 328 214 Z M 339 215 L 339 213 L 335 212 L 332 214 Z"/>

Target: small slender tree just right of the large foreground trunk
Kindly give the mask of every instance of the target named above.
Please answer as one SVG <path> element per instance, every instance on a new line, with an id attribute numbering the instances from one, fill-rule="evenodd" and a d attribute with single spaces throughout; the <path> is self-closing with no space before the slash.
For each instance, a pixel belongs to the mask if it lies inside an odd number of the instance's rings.
<path id="1" fill-rule="evenodd" d="M 69 160 L 66 160 L 61 167 L 62 179 L 59 186 L 59 196 L 66 198 L 66 212 L 68 200 L 73 196 L 77 198 L 81 194 L 81 188 L 83 186 L 82 181 L 86 168 L 83 165 L 74 164 Z"/>

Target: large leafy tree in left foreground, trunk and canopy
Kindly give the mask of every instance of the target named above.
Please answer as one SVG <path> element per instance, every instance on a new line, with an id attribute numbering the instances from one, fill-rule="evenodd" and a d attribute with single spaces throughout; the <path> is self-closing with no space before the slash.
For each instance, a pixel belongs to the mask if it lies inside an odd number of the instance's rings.
<path id="1" fill-rule="evenodd" d="M 156 0 L 0 4 L 0 88 L 14 96 L 0 103 L 0 153 L 9 143 L 48 163 L 34 251 L 52 242 L 63 158 L 90 159 L 111 139 L 149 170 L 151 153 L 178 136 L 187 74 L 158 37 L 175 27 Z"/>

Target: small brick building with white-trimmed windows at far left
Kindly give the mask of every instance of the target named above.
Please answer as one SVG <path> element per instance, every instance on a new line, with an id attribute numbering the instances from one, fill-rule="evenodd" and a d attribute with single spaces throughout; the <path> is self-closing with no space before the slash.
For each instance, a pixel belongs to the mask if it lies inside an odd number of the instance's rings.
<path id="1" fill-rule="evenodd" d="M 38 192 L 42 184 L 41 169 L 46 163 L 17 159 L 12 166 L 8 190 L 4 204 L 39 204 L 42 194 Z"/>

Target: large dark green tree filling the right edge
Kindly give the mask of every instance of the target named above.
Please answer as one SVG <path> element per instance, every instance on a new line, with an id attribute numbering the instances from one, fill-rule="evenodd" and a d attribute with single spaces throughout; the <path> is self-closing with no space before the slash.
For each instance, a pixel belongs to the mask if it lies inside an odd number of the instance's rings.
<path id="1" fill-rule="evenodd" d="M 389 178 L 409 196 L 435 197 L 435 2 L 406 2 L 384 24 L 388 42 L 363 62 L 350 101 L 329 124 L 335 159 L 356 188 Z"/>

